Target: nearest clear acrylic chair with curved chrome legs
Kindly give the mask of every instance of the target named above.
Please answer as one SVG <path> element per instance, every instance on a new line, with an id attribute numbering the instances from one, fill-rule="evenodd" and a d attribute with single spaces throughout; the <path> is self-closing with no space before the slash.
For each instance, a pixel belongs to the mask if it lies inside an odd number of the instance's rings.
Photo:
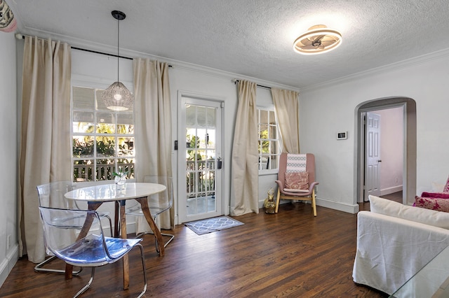
<path id="1" fill-rule="evenodd" d="M 79 292 L 78 297 L 91 285 L 95 267 L 111 264 L 126 255 L 136 246 L 140 248 L 142 259 L 142 271 L 144 287 L 138 297 L 142 297 L 147 291 L 147 274 L 145 269 L 145 257 L 142 239 L 121 239 L 107 237 L 103 234 L 100 216 L 93 210 L 71 210 L 60 208 L 39 207 L 43 222 L 43 236 L 46 247 L 67 264 L 76 267 L 91 267 L 91 278 Z M 80 234 L 81 228 L 86 222 L 92 222 L 90 227 L 83 229 L 86 236 Z"/>

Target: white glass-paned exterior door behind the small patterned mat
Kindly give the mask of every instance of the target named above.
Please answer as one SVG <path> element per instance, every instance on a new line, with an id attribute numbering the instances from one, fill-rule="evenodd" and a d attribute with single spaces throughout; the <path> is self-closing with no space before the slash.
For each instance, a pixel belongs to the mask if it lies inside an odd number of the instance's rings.
<path id="1" fill-rule="evenodd" d="M 179 223 L 223 214 L 221 106 L 218 101 L 180 97 Z"/>

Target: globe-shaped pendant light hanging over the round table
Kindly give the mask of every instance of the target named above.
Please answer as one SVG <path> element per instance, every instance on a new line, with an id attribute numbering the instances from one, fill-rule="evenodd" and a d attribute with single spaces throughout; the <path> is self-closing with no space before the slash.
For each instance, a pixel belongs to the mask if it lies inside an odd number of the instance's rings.
<path id="1" fill-rule="evenodd" d="M 133 94 L 119 81 L 120 21 L 125 20 L 126 15 L 119 10 L 113 10 L 112 16 L 117 20 L 117 81 L 107 87 L 101 97 L 110 110 L 126 111 L 133 106 Z"/>

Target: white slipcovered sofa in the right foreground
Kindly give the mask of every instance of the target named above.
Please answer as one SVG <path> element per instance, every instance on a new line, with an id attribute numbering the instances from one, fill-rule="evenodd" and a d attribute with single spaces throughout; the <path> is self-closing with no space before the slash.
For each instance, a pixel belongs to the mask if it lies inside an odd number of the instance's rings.
<path id="1" fill-rule="evenodd" d="M 352 277 L 389 295 L 449 246 L 449 213 L 370 196 L 357 215 Z"/>

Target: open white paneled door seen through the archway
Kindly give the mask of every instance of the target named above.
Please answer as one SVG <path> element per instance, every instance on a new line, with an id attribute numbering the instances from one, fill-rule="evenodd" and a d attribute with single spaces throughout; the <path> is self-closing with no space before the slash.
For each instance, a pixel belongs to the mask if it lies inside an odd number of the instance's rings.
<path id="1" fill-rule="evenodd" d="M 380 197 L 380 115 L 366 113 L 366 149 L 365 149 L 365 194 L 363 199 L 368 201 L 368 195 Z"/>

